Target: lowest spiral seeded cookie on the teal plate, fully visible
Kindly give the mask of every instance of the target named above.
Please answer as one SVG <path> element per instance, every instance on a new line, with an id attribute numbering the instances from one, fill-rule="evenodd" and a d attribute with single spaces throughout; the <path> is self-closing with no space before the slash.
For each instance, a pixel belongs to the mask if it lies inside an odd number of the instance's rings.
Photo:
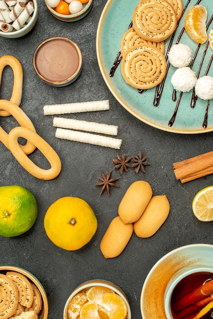
<path id="1" fill-rule="evenodd" d="M 162 82 L 166 73 L 164 55 L 151 46 L 136 46 L 122 59 L 121 72 L 127 84 L 150 89 Z"/>

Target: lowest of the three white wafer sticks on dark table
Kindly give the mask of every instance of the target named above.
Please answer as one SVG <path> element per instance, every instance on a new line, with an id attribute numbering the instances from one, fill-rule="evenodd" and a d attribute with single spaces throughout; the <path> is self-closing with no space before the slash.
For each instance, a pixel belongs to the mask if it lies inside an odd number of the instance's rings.
<path id="1" fill-rule="evenodd" d="M 111 147 L 120 149 L 122 140 L 115 139 L 107 136 L 101 136 L 96 134 L 90 134 L 85 132 L 74 131 L 71 129 L 57 128 L 56 137 L 59 139 L 65 139 L 75 142 L 88 143 L 93 145 L 99 145 L 104 147 Z"/>

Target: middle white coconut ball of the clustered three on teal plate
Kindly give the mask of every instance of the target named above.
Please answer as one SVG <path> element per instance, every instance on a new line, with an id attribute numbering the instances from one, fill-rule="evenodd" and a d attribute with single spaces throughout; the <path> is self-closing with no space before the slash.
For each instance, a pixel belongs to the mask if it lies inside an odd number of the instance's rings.
<path id="1" fill-rule="evenodd" d="M 171 83 L 175 90 L 189 92 L 196 84 L 197 77 L 190 67 L 177 69 L 171 77 Z"/>

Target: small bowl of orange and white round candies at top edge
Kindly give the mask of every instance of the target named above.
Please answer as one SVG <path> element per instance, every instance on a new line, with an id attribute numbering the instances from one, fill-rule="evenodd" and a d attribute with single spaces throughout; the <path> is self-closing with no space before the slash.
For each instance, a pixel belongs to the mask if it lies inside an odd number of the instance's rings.
<path id="1" fill-rule="evenodd" d="M 45 0 L 45 4 L 55 18 L 74 22 L 90 12 L 93 0 Z"/>

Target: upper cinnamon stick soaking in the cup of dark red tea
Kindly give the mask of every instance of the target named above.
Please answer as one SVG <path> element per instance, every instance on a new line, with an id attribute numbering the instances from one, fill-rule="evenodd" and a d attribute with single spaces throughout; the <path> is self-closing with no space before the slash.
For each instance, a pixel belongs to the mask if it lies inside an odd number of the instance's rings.
<path id="1" fill-rule="evenodd" d="M 173 304 L 173 309 L 175 312 L 179 312 L 211 294 L 213 294 L 213 279 L 206 281 L 197 289 L 177 299 Z"/>

